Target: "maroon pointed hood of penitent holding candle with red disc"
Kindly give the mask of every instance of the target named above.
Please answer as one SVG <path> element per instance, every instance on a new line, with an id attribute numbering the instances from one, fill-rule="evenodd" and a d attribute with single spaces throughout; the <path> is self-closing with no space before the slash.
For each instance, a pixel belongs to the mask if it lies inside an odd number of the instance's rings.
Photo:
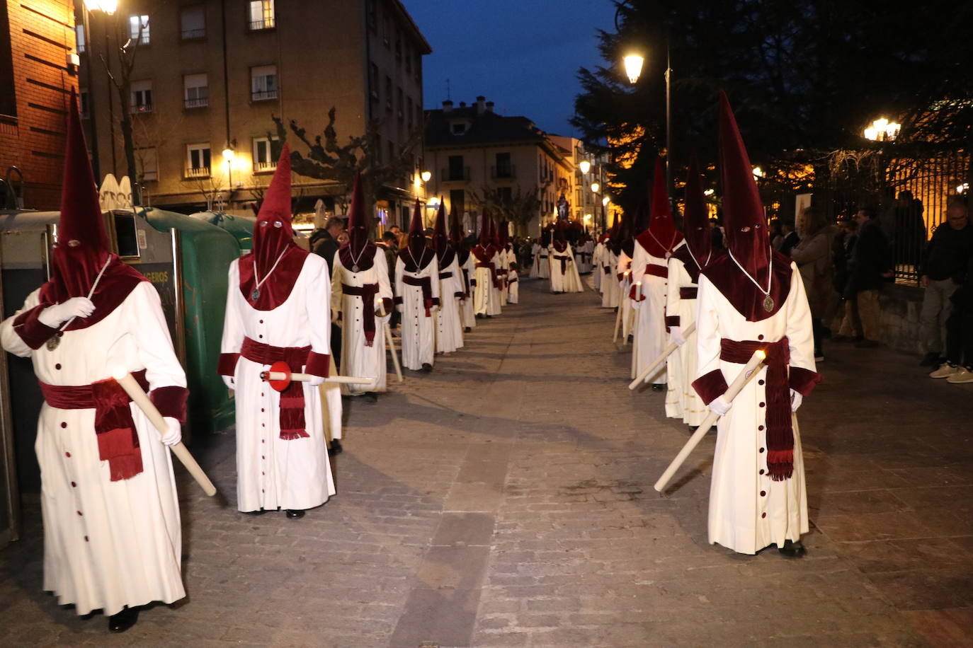
<path id="1" fill-rule="evenodd" d="M 254 224 L 253 250 L 239 259 L 240 292 L 258 311 L 277 308 L 294 289 L 308 254 L 294 243 L 291 153 L 285 142 Z"/>

